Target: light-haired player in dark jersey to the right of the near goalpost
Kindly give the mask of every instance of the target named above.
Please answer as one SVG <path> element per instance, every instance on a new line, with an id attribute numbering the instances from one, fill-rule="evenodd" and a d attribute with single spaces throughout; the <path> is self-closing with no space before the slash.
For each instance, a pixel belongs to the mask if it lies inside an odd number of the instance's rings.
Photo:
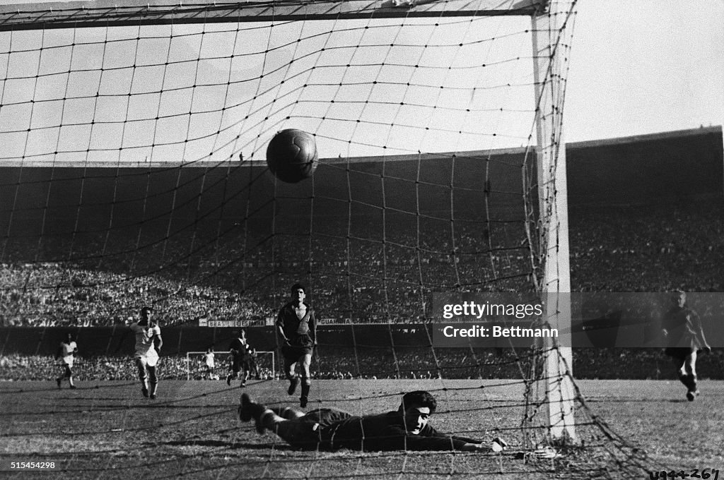
<path id="1" fill-rule="evenodd" d="M 712 349 L 704 337 L 699 315 L 686 306 L 686 293 L 677 291 L 673 297 L 674 306 L 662 320 L 662 334 L 667 341 L 664 353 L 671 357 L 679 381 L 686 386 L 686 399 L 694 401 L 699 395 L 696 387 L 696 356 L 699 352 Z"/>

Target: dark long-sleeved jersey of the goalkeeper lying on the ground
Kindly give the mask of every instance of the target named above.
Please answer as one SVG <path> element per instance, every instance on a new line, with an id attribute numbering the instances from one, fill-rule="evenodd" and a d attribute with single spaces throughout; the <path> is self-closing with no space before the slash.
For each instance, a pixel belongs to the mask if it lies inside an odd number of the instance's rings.
<path id="1" fill-rule="evenodd" d="M 439 433 L 429 424 L 419 434 L 410 434 L 405 431 L 403 415 L 397 411 L 321 424 L 320 437 L 320 447 L 325 450 L 460 450 L 466 443 L 480 443 Z"/>

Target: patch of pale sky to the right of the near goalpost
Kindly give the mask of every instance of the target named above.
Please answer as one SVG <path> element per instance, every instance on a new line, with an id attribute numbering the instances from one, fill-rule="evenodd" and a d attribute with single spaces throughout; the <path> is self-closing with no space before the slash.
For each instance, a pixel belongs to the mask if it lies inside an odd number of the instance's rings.
<path id="1" fill-rule="evenodd" d="M 724 1 L 578 2 L 568 141 L 724 123 Z"/>

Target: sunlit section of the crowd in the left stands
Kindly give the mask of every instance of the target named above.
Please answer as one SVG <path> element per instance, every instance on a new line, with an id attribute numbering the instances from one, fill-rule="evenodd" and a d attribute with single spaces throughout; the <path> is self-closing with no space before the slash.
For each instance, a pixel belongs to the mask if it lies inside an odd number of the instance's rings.
<path id="1" fill-rule="evenodd" d="M 0 265 L 1 326 L 99 327 L 127 323 L 138 303 L 151 299 L 164 323 L 211 317 L 259 317 L 262 310 L 239 293 L 173 282 L 158 275 L 133 280 L 62 263 Z"/>

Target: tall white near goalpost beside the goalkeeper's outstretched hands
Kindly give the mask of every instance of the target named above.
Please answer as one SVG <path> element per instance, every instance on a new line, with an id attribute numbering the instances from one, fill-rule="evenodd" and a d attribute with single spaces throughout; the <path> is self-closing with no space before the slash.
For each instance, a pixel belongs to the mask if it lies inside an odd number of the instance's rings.
<path id="1" fill-rule="evenodd" d="M 568 187 L 563 142 L 563 100 L 568 55 L 560 28 L 569 21 L 560 4 L 546 15 L 531 15 L 536 84 L 537 172 L 541 254 L 544 258 L 542 296 L 547 322 L 564 333 L 558 344 L 545 347 L 550 435 L 576 439 L 572 385 L 571 267 L 568 248 Z M 563 343 L 563 345 L 560 345 Z"/>

